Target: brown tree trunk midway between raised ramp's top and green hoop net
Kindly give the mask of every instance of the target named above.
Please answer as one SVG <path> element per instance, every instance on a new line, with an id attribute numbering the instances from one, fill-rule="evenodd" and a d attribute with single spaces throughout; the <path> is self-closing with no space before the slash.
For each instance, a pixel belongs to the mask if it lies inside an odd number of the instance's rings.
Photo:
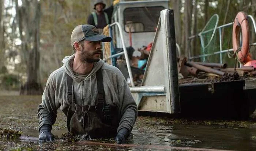
<path id="1" fill-rule="evenodd" d="M 184 31 L 185 31 L 185 56 L 189 57 L 190 54 L 190 40 L 188 39 L 191 36 L 191 14 L 192 14 L 192 1 L 185 1 L 185 20 L 184 20 Z"/>

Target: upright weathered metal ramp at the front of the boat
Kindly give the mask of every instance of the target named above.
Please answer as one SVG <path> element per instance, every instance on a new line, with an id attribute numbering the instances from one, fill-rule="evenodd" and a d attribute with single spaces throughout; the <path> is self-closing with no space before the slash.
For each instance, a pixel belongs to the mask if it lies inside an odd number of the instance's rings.
<path id="1" fill-rule="evenodd" d="M 139 111 L 180 113 L 172 9 L 161 11 L 142 86 L 130 90 Z"/>

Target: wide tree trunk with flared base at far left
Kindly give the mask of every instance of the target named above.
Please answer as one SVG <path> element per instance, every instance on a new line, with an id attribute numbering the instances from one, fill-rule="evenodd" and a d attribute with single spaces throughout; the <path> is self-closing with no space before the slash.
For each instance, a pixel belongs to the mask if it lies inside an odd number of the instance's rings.
<path id="1" fill-rule="evenodd" d="M 27 65 L 27 82 L 21 87 L 20 94 L 42 94 L 39 76 L 41 5 L 37 0 L 23 0 L 22 6 L 18 7 L 18 0 L 15 2 L 19 31 L 20 34 L 25 33 L 20 35 L 20 39 L 22 41 L 23 59 L 25 59 Z"/>

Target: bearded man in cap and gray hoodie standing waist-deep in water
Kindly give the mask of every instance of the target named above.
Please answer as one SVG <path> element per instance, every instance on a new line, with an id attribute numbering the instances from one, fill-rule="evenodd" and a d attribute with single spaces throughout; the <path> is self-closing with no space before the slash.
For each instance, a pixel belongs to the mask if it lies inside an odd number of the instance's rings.
<path id="1" fill-rule="evenodd" d="M 60 108 L 67 116 L 68 131 L 80 139 L 116 137 L 116 143 L 125 143 L 138 109 L 120 70 L 99 59 L 101 42 L 111 40 L 92 25 L 74 28 L 75 54 L 50 74 L 42 95 L 39 140 L 54 140 L 51 130 Z"/>

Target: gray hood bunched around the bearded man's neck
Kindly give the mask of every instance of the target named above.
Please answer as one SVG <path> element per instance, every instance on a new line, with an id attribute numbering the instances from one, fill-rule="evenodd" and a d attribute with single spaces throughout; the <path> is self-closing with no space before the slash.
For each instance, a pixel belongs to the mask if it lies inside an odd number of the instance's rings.
<path id="1" fill-rule="evenodd" d="M 63 62 L 63 66 L 64 66 L 64 69 L 65 69 L 65 72 L 72 78 L 75 78 L 75 79 L 78 79 L 75 77 L 75 74 L 73 72 L 73 69 L 72 69 L 72 64 L 73 64 L 73 61 L 74 61 L 74 58 L 75 58 L 75 54 L 71 55 L 71 56 L 66 56 L 64 57 L 64 59 L 62 60 Z M 96 72 L 101 68 L 101 66 L 104 64 L 104 62 L 102 61 L 102 59 L 99 59 L 98 62 L 95 62 L 94 63 L 94 66 L 93 66 L 93 70 L 91 70 L 91 72 L 89 73 L 89 75 L 86 77 L 86 79 L 88 77 L 91 77 L 93 74 L 96 74 Z"/>

